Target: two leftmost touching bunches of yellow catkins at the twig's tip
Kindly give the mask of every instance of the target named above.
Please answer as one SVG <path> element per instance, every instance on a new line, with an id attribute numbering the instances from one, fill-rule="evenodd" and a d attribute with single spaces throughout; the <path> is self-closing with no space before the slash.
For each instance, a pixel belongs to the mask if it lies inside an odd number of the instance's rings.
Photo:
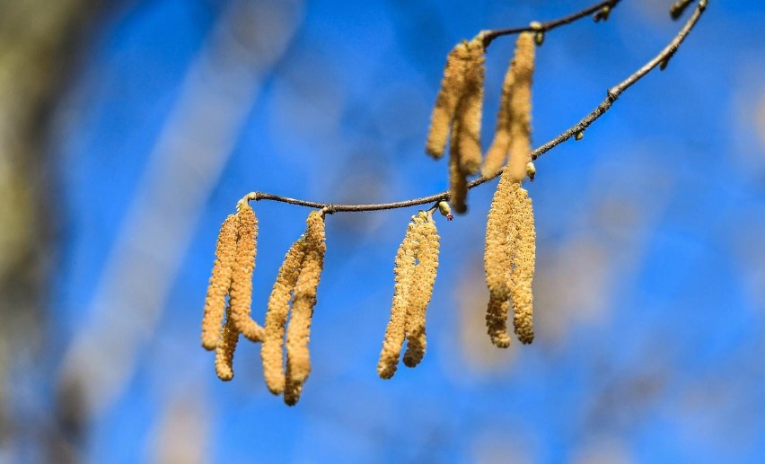
<path id="1" fill-rule="evenodd" d="M 292 406 L 300 399 L 303 383 L 311 372 L 308 339 L 326 250 L 324 216 L 320 211 L 309 214 L 305 233 L 287 251 L 268 300 L 265 327 L 261 327 L 251 318 L 258 220 L 247 199 L 221 226 L 207 287 L 202 346 L 215 350 L 215 372 L 222 381 L 230 381 L 239 335 L 262 342 L 260 355 L 268 390 L 283 393 L 285 403 Z"/>

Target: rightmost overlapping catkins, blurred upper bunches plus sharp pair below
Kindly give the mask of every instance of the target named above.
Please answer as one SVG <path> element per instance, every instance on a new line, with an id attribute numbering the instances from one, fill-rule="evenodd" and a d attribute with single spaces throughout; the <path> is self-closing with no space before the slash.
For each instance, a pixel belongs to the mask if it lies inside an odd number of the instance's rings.
<path id="1" fill-rule="evenodd" d="M 450 202 L 457 213 L 467 211 L 467 178 L 480 173 L 494 177 L 503 169 L 491 202 L 486 227 L 484 265 L 489 290 L 488 335 L 507 347 L 506 320 L 514 308 L 518 339 L 532 343 L 532 279 L 535 232 L 532 201 L 521 183 L 533 180 L 531 109 L 534 51 L 540 33 L 523 32 L 515 44 L 497 114 L 497 129 L 481 165 L 480 126 L 483 101 L 484 36 L 463 41 L 446 58 L 444 79 L 435 101 L 426 153 L 440 158 L 449 142 Z M 450 138 L 451 135 L 451 138 Z"/>

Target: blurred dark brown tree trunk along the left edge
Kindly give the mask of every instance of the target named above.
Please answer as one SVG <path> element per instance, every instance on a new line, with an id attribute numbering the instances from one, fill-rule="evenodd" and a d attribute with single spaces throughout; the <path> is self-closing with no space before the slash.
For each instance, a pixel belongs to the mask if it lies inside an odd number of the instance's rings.
<path id="1" fill-rule="evenodd" d="M 76 459 L 76 421 L 52 417 L 30 390 L 44 390 L 32 381 L 40 375 L 33 366 L 46 343 L 55 250 L 51 115 L 99 4 L 0 0 L 0 450 L 10 461 Z"/>

